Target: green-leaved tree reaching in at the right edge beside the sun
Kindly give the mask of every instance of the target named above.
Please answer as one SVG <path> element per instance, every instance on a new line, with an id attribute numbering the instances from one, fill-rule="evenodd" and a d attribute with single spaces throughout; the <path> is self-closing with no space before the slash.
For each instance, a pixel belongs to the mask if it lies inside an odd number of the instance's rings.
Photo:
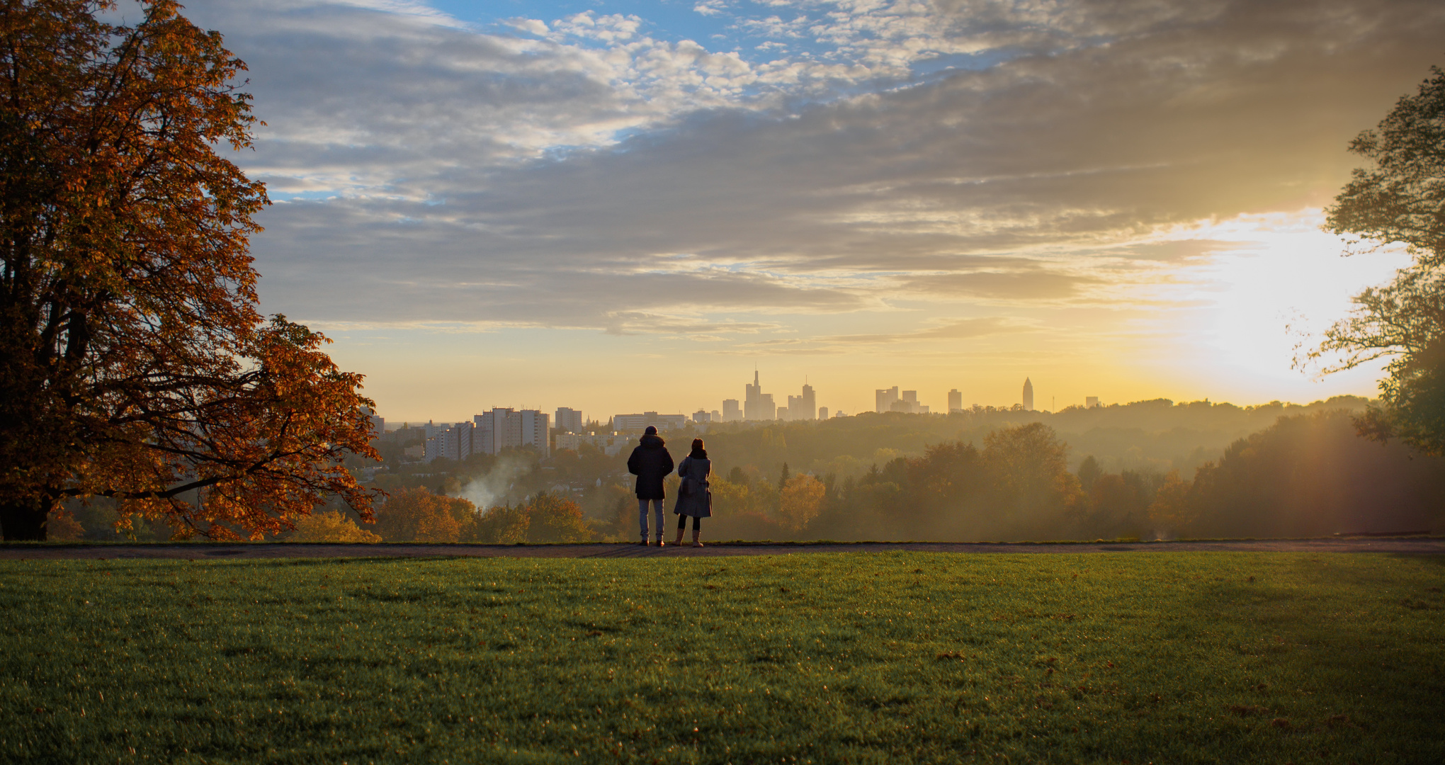
<path id="1" fill-rule="evenodd" d="M 1389 357 L 1379 403 L 1355 418 L 1360 435 L 1397 438 L 1445 454 L 1445 71 L 1396 103 L 1374 130 L 1350 143 L 1373 161 L 1357 168 L 1327 210 L 1325 228 L 1351 252 L 1403 244 L 1413 256 L 1393 282 L 1354 298 L 1309 359 L 1340 354 L 1325 373 Z"/>

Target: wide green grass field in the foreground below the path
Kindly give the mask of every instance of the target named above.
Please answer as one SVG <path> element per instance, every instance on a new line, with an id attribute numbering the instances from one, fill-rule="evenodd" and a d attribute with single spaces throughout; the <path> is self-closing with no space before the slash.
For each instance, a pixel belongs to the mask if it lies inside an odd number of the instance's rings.
<path id="1" fill-rule="evenodd" d="M 1445 560 L 0 563 L 3 762 L 1445 762 Z"/>

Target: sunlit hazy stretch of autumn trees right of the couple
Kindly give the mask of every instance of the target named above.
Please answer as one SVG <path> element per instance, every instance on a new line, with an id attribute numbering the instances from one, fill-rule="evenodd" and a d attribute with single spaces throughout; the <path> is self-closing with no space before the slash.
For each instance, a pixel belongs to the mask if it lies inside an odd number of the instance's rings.
<path id="1" fill-rule="evenodd" d="M 714 484 L 718 538 L 1117 539 L 1439 531 L 1445 460 L 1355 435 L 1347 411 L 1279 418 L 1192 477 L 1108 471 L 1042 422 L 949 441 L 861 477 L 785 474 Z"/>

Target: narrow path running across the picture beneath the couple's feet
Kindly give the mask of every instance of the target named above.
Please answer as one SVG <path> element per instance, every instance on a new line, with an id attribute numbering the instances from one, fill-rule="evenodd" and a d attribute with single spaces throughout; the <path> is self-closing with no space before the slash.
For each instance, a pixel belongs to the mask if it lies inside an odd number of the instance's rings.
<path id="1" fill-rule="evenodd" d="M 0 560 L 116 560 L 116 558 L 672 558 L 727 555 L 802 555 L 808 552 L 1403 552 L 1445 554 L 1441 537 L 1345 537 L 1331 539 L 1241 539 L 1204 542 L 1081 542 L 1081 544 L 1000 544 L 1000 542 L 855 542 L 855 544 L 712 544 L 663 548 L 629 544 L 581 545 L 471 545 L 471 544 L 4 544 Z"/>

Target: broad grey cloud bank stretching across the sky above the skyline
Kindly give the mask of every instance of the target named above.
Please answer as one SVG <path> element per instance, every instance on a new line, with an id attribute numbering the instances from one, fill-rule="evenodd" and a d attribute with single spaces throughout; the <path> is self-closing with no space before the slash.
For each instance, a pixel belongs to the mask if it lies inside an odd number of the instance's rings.
<path id="1" fill-rule="evenodd" d="M 517 36 L 194 3 L 267 121 L 236 156 L 283 200 L 253 242 L 266 307 L 746 336 L 890 301 L 1113 299 L 1212 252 L 1162 233 L 1328 200 L 1445 38 L 1413 0 L 780 7 L 734 22 L 799 52 L 751 61 L 630 14 Z"/>

